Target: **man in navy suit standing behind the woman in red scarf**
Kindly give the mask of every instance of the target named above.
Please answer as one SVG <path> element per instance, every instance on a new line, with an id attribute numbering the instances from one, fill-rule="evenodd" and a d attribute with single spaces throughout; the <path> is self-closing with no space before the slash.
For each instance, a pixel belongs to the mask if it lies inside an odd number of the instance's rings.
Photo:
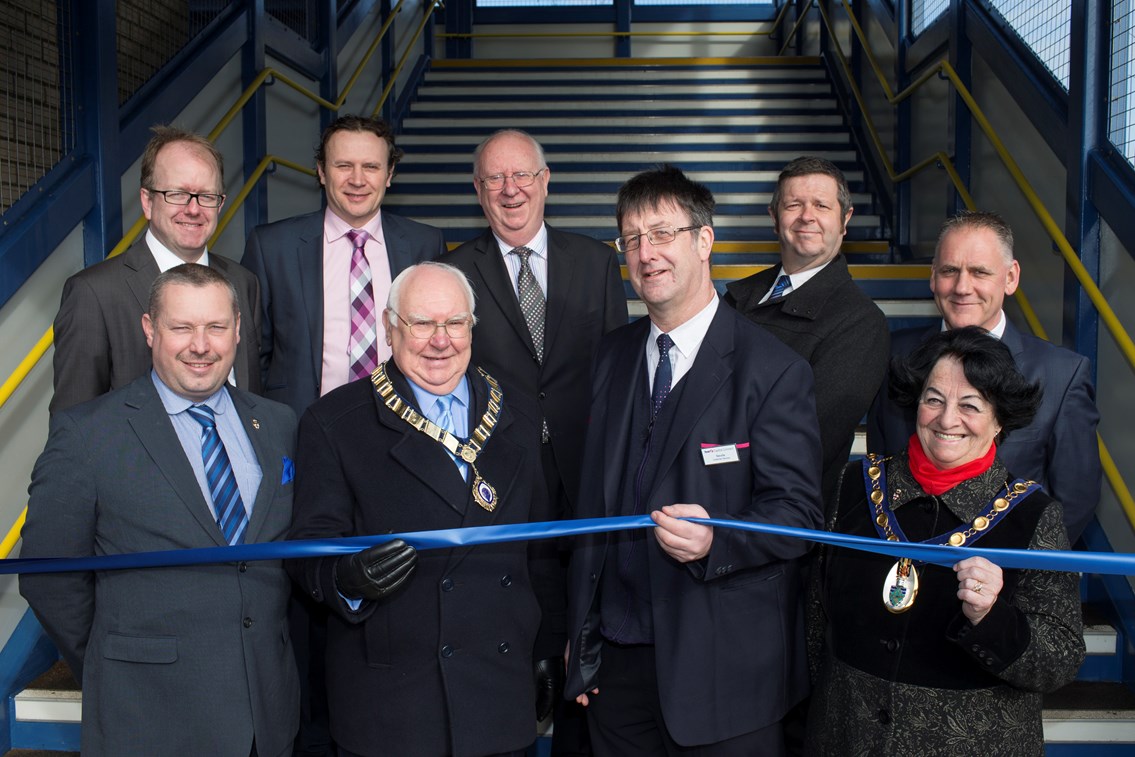
<path id="1" fill-rule="evenodd" d="M 1075 542 L 1095 512 L 1102 478 L 1092 367 L 1087 358 L 1022 334 L 1009 322 L 1004 297 L 1019 281 L 1012 229 L 1000 216 L 966 212 L 947 220 L 930 278 L 942 326 L 899 331 L 891 351 L 907 355 L 940 328 L 962 326 L 981 326 L 1004 342 L 1020 372 L 1039 381 L 1044 396 L 1033 422 L 1010 434 L 998 455 L 1015 476 L 1039 481 L 1063 504 L 1068 540 Z M 881 392 L 868 415 L 867 449 L 896 454 L 906 448 L 914 427 L 913 410 L 903 411 Z"/>

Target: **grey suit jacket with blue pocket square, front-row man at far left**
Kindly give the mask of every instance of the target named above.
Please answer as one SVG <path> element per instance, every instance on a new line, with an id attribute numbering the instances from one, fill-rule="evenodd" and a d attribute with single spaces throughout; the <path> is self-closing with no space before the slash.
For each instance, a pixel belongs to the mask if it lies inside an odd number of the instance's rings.
<path id="1" fill-rule="evenodd" d="M 292 520 L 295 415 L 230 390 L 263 479 L 247 542 Z M 24 557 L 224 546 L 149 373 L 51 418 Z M 279 561 L 22 575 L 83 684 L 83 755 L 291 755 L 299 676 Z"/>

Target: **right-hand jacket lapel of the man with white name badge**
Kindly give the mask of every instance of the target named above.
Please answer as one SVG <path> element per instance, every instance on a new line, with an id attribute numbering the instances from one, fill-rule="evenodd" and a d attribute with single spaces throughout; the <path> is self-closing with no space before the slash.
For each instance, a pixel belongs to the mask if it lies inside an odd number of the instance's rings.
<path id="1" fill-rule="evenodd" d="M 728 310 L 728 305 L 718 303 L 717 313 L 709 323 L 709 330 L 701 342 L 698 356 L 690 365 L 689 372 L 682 377 L 686 386 L 682 389 L 681 402 L 671 409 L 674 415 L 658 455 L 658 476 L 651 482 L 651 495 L 658 481 L 664 478 L 663 473 L 670 470 L 678 453 L 689 441 L 695 423 L 705 414 L 717 392 L 733 373 L 733 363 L 729 358 L 733 353 L 735 322 Z"/>

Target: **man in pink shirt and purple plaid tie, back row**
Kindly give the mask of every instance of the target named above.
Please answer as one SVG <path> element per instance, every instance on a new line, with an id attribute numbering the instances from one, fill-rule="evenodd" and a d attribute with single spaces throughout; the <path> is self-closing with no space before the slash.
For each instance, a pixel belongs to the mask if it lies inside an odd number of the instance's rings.
<path id="1" fill-rule="evenodd" d="M 351 373 L 352 241 L 370 275 L 369 373 L 390 356 L 375 320 L 390 281 L 410 266 L 445 252 L 442 232 L 381 212 L 402 150 L 379 118 L 343 116 L 316 152 L 326 210 L 258 226 L 241 262 L 260 279 L 260 369 L 264 396 L 303 414 L 312 402 L 359 378 Z M 358 236 L 360 232 L 365 237 Z"/>

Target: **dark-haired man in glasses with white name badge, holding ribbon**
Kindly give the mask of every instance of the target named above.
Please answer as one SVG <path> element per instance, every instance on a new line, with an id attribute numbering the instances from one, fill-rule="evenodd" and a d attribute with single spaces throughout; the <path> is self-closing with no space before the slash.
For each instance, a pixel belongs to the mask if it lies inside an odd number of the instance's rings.
<path id="1" fill-rule="evenodd" d="M 720 302 L 713 209 L 671 166 L 619 192 L 616 245 L 649 318 L 600 345 L 579 515 L 656 528 L 572 556 L 565 691 L 599 757 L 782 755 L 808 685 L 807 542 L 680 520 L 822 522 L 812 369 Z"/>

